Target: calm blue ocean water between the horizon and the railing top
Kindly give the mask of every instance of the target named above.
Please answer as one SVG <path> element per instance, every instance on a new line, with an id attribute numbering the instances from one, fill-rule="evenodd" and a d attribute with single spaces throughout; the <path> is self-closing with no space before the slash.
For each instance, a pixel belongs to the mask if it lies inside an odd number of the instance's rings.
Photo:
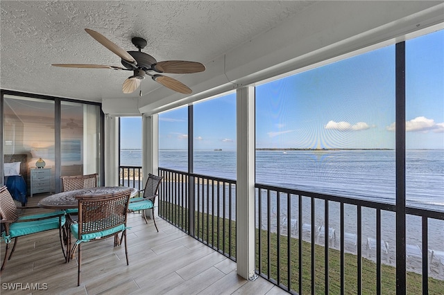
<path id="1" fill-rule="evenodd" d="M 258 150 L 256 182 L 395 203 L 394 150 Z M 122 150 L 121 166 L 142 166 L 141 150 Z M 187 150 L 160 150 L 159 166 L 187 171 Z M 194 151 L 194 172 L 236 179 L 234 150 Z M 407 205 L 444 211 L 444 150 L 407 150 Z"/>

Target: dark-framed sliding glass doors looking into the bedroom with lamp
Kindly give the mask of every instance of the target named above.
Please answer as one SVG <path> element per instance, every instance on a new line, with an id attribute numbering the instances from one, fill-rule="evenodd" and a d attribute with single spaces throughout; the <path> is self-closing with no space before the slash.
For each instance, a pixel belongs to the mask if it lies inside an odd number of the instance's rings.
<path id="1" fill-rule="evenodd" d="M 62 175 L 100 177 L 100 126 L 100 105 L 4 94 L 3 161 L 26 155 L 28 195 L 60 191 Z M 50 175 L 49 189 L 33 189 L 35 169 Z"/>

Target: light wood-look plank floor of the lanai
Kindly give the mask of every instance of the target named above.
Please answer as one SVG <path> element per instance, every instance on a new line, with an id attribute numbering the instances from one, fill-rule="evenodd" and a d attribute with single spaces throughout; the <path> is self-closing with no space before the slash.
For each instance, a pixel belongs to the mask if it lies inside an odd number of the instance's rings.
<path id="1" fill-rule="evenodd" d="M 42 195 L 29 198 L 34 206 Z M 44 212 L 37 209 L 36 212 Z M 20 238 L 1 274 L 1 294 L 287 294 L 263 278 L 245 280 L 236 263 L 156 217 L 128 215 L 128 259 L 113 239 L 82 246 L 82 281 L 77 260 L 65 263 L 58 231 Z M 3 260 L 4 242 L 1 242 Z M 40 290 L 31 290 L 31 284 Z M 38 284 L 38 285 L 37 285 Z M 16 287 L 12 290 L 12 287 Z M 18 288 L 18 289 L 17 289 Z"/>

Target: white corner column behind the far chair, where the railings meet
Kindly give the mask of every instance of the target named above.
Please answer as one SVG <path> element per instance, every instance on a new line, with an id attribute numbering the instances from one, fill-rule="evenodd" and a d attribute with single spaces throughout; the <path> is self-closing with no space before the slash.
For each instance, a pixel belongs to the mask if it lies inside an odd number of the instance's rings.
<path id="1" fill-rule="evenodd" d="M 144 184 L 148 179 L 148 173 L 157 175 L 159 168 L 159 115 L 142 116 L 142 170 Z M 157 199 L 155 200 L 157 203 Z M 157 204 L 154 204 L 157 206 Z M 151 216 L 152 211 L 145 211 L 146 217 Z"/>

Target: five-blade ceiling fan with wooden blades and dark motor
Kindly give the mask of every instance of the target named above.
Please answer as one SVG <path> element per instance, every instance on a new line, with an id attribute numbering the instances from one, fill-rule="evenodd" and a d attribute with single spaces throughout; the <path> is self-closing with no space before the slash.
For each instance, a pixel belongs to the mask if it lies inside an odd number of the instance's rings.
<path id="1" fill-rule="evenodd" d="M 141 37 L 133 37 L 133 39 L 131 39 L 139 51 L 124 51 L 105 36 L 101 35 L 101 33 L 90 30 L 89 28 L 85 28 L 85 31 L 91 35 L 91 37 L 96 39 L 97 42 L 121 57 L 121 64 L 123 64 L 124 68 L 102 64 L 52 64 L 52 66 L 133 71 L 133 75 L 123 82 L 123 93 L 133 93 L 133 91 L 139 87 L 140 81 L 145 78 L 145 75 L 149 75 L 151 79 L 162 84 L 164 87 L 180 93 L 189 94 L 192 91 L 187 85 L 166 75 L 160 75 L 159 73 L 199 73 L 205 71 L 205 66 L 200 62 L 188 62 L 185 60 L 166 60 L 163 62 L 157 62 L 154 57 L 142 52 L 142 49 L 146 46 L 147 42 L 146 39 Z M 142 96 L 142 92 L 140 95 Z"/>

